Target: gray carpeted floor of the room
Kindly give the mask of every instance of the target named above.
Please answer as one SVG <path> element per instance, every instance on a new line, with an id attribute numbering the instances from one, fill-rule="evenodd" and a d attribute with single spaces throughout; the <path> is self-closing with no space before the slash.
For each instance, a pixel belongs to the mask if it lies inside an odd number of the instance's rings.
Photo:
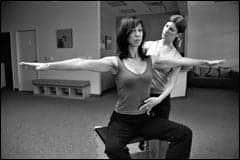
<path id="1" fill-rule="evenodd" d="M 239 158 L 238 96 L 232 90 L 190 88 L 186 97 L 172 100 L 170 119 L 193 130 L 191 158 Z M 93 127 L 107 124 L 115 101 L 114 90 L 81 101 L 3 89 L 1 157 L 106 158 Z"/>

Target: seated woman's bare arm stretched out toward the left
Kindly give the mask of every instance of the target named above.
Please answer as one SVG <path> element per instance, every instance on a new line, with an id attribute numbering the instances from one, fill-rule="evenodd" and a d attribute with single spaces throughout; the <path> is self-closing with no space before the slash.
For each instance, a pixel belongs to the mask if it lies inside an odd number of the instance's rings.
<path id="1" fill-rule="evenodd" d="M 36 67 L 36 70 L 88 70 L 95 72 L 115 72 L 116 57 L 109 56 L 101 59 L 74 58 L 50 63 L 21 62 L 20 65 Z"/>

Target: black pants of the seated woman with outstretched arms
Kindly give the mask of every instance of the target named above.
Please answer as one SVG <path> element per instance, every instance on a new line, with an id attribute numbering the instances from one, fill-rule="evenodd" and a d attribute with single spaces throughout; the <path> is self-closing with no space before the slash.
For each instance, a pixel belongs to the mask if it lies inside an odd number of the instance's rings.
<path id="1" fill-rule="evenodd" d="M 112 113 L 108 124 L 105 153 L 111 159 L 130 159 L 126 145 L 136 136 L 169 141 L 167 159 L 187 159 L 190 156 L 192 130 L 187 126 L 158 116 L 124 115 L 117 112 Z"/>

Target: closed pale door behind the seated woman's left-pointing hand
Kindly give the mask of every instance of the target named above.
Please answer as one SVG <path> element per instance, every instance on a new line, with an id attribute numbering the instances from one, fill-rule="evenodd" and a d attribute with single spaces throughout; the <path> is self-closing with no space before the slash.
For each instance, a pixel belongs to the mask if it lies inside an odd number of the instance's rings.
<path id="1" fill-rule="evenodd" d="M 18 31 L 17 44 L 19 61 L 37 62 L 36 31 Z M 33 91 L 32 80 L 37 79 L 37 71 L 33 67 L 19 67 L 19 90 Z"/>

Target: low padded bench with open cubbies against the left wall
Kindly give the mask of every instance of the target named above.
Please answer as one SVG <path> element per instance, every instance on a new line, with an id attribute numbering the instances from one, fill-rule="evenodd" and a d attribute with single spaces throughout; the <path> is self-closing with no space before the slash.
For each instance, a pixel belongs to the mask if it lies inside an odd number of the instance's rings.
<path id="1" fill-rule="evenodd" d="M 35 79 L 32 81 L 34 94 L 85 99 L 90 94 L 90 82 L 81 80 Z"/>

